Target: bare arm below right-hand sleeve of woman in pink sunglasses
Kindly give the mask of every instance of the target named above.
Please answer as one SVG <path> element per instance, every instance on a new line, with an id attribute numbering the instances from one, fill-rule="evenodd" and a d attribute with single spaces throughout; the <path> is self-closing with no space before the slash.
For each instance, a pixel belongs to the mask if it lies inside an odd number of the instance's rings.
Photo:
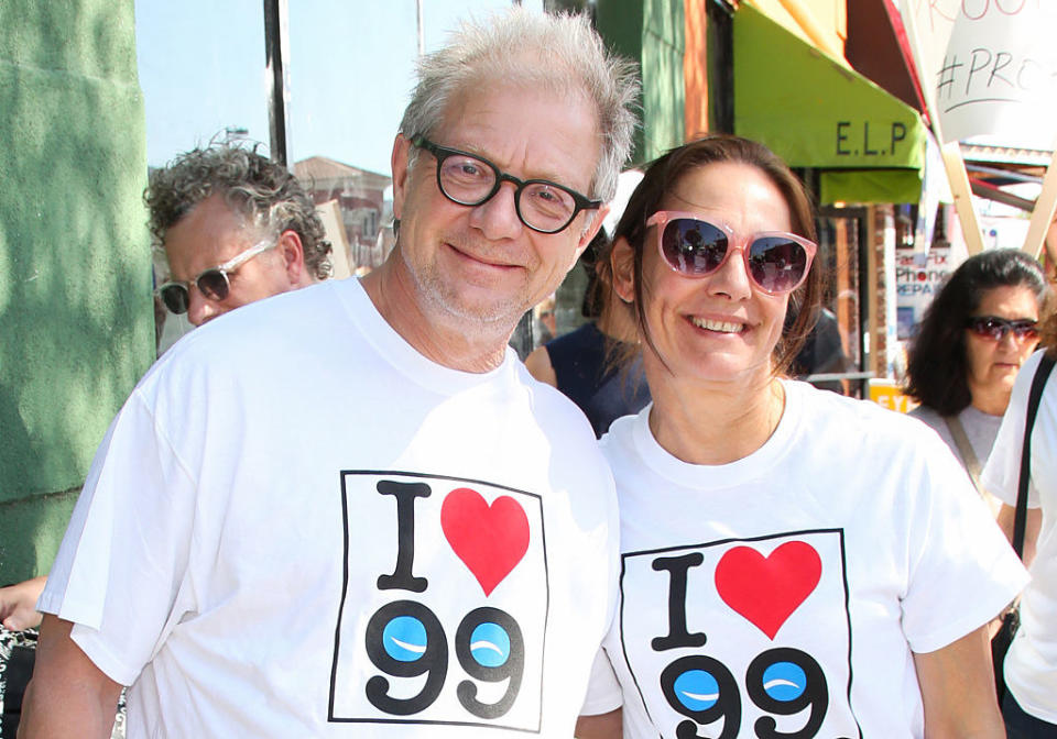
<path id="1" fill-rule="evenodd" d="M 1003 739 L 987 626 L 936 650 L 915 653 L 925 739 Z"/>

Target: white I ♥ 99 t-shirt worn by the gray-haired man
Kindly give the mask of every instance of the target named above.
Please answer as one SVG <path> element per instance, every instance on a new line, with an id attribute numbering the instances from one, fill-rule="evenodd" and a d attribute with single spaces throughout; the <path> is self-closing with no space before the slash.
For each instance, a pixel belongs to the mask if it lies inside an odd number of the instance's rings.
<path id="1" fill-rule="evenodd" d="M 350 279 L 166 353 L 40 606 L 131 684 L 130 739 L 571 736 L 617 528 L 571 402 L 513 351 L 429 362 Z"/>

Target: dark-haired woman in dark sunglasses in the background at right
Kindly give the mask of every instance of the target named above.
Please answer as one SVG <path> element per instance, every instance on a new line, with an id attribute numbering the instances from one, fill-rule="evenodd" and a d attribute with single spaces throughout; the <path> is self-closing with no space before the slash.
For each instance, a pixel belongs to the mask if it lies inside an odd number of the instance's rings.
<path id="1" fill-rule="evenodd" d="M 980 471 L 1016 373 L 1038 344 L 1046 293 L 1042 266 L 1024 252 L 970 256 L 925 311 L 907 354 L 906 393 L 922 404 L 911 416 L 939 433 L 985 498 Z"/>

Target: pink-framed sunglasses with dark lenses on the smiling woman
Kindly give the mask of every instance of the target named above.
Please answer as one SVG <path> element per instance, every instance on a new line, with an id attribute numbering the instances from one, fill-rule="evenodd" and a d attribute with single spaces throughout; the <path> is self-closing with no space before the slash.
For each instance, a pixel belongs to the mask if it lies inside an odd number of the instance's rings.
<path id="1" fill-rule="evenodd" d="M 818 245 L 784 231 L 740 235 L 721 221 L 695 213 L 658 210 L 646 221 L 657 227 L 661 256 L 685 277 L 706 277 L 717 272 L 740 244 L 745 273 L 760 290 L 782 295 L 807 279 Z M 733 244 L 733 246 L 732 246 Z"/>

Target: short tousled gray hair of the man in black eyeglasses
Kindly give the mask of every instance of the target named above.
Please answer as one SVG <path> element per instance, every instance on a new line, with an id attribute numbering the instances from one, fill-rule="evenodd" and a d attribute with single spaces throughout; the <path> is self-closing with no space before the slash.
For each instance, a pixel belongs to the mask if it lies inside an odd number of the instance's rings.
<path id="1" fill-rule="evenodd" d="M 400 132 L 428 136 L 460 92 L 493 81 L 585 95 L 600 134 L 590 196 L 613 197 L 631 156 L 639 79 L 636 66 L 609 52 L 586 15 L 512 8 L 484 22 L 464 21 L 443 48 L 418 60 L 418 85 Z"/>

